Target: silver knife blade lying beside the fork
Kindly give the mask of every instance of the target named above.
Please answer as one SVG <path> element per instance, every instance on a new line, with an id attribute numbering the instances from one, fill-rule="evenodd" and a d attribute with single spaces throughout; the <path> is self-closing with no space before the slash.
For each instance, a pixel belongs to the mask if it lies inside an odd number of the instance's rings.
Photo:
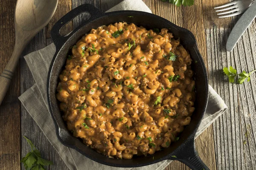
<path id="1" fill-rule="evenodd" d="M 238 42 L 239 38 L 244 34 L 244 31 L 250 26 L 256 17 L 256 3 L 253 3 L 239 18 L 236 25 L 232 29 L 228 39 L 226 49 L 227 51 L 232 51 L 236 42 Z"/>

